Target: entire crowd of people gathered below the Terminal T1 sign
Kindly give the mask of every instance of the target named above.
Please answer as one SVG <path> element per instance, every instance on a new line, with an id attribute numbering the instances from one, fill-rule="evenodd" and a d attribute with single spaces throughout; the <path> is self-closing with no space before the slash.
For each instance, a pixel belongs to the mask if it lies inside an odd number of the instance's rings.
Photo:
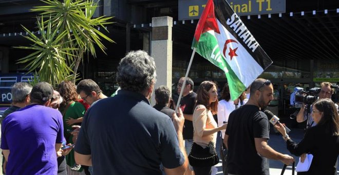
<path id="1" fill-rule="evenodd" d="M 16 83 L 12 107 L 1 121 L 6 174 L 204 175 L 219 162 L 217 151 L 224 174 L 230 175 L 269 174 L 269 159 L 294 162 L 268 145 L 269 118 L 262 111 L 275 100 L 269 80 L 256 79 L 235 101 L 225 84 L 218 101 L 213 81 L 202 82 L 195 93 L 193 80 L 180 78 L 182 98 L 172 99 L 167 86 L 155 89 L 156 77 L 153 58 L 138 50 L 121 59 L 114 97 L 107 98 L 90 79 L 77 85 L 63 81 L 56 90 L 46 82 Z M 300 110 L 298 121 L 313 118 L 300 143 L 283 124 L 275 125 L 292 154 L 302 160 L 313 154 L 304 174 L 336 172 L 339 115 L 328 87 L 322 84 L 324 96 L 313 103 L 311 116 Z M 154 107 L 149 102 L 153 92 Z M 217 137 L 220 150 L 215 149 Z"/>

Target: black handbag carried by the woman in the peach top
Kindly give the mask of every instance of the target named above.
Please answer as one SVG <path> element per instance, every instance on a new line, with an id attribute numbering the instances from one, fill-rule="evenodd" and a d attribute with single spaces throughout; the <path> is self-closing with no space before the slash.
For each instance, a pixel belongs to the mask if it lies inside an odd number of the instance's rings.
<path id="1" fill-rule="evenodd" d="M 213 142 L 210 142 L 206 148 L 193 142 L 192 149 L 189 154 L 189 162 L 191 166 L 208 167 L 219 163 L 219 157 L 215 151 Z"/>

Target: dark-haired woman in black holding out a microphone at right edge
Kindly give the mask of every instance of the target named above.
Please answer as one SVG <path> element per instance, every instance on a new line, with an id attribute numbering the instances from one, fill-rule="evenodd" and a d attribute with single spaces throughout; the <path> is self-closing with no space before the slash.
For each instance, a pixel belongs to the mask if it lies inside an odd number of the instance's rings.
<path id="1" fill-rule="evenodd" d="M 335 162 L 339 153 L 339 115 L 334 102 L 327 98 L 315 101 L 312 117 L 316 126 L 306 131 L 299 144 L 292 141 L 283 125 L 279 124 L 275 127 L 284 135 L 287 149 L 292 154 L 313 155 L 309 169 L 298 174 L 336 174 Z"/>

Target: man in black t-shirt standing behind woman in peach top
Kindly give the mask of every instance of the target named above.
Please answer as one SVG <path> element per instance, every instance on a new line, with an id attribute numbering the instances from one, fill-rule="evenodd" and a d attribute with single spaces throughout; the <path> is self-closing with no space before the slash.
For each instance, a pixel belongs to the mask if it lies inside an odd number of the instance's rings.
<path id="1" fill-rule="evenodd" d="M 182 97 L 180 100 L 180 108 L 185 118 L 184 128 L 183 128 L 183 139 L 185 141 L 185 150 L 187 155 L 190 154 L 192 144 L 193 144 L 193 111 L 197 98 L 197 94 L 193 92 L 193 80 L 189 77 L 186 79 L 185 85 L 183 85 L 185 77 L 180 78 L 178 82 L 178 94 L 180 94 L 181 88 L 183 89 Z M 190 165 L 189 172 L 186 171 L 185 174 L 193 174 L 193 167 Z"/>

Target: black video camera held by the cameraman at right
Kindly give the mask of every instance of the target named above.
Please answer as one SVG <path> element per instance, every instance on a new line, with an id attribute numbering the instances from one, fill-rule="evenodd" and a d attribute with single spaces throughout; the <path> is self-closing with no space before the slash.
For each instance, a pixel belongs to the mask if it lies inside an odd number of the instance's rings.
<path id="1" fill-rule="evenodd" d="M 312 104 L 318 98 L 321 88 L 312 88 L 309 91 L 300 90 L 295 93 L 295 102 Z"/>

